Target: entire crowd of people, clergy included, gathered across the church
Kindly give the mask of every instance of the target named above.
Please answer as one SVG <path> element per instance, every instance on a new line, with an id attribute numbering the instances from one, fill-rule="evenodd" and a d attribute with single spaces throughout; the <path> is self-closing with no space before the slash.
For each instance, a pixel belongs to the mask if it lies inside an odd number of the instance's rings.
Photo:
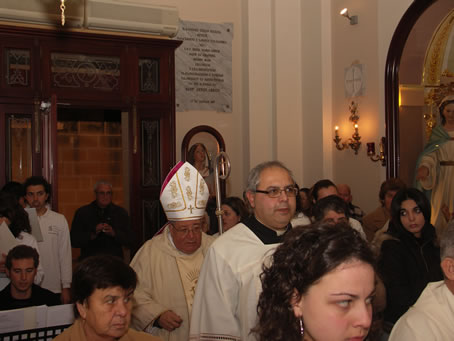
<path id="1" fill-rule="evenodd" d="M 168 222 L 129 265 L 133 233 L 110 183 L 96 183 L 71 230 L 43 177 L 5 186 L 0 223 L 19 245 L 2 254 L 0 309 L 74 303 L 76 321 L 58 340 L 454 337 L 454 223 L 438 233 L 420 190 L 388 179 L 365 214 L 347 184 L 300 188 L 284 164 L 263 162 L 243 199 L 222 202 L 219 234 L 199 168 L 179 162 L 169 172 L 160 194 Z M 23 206 L 35 209 L 42 240 Z M 74 272 L 71 246 L 81 249 Z"/>

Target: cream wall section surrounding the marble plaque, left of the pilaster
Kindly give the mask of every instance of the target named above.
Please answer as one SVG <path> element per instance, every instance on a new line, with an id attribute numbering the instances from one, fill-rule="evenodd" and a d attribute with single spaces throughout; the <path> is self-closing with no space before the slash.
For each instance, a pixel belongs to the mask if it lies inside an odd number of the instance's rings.
<path id="1" fill-rule="evenodd" d="M 176 159 L 181 158 L 181 142 L 184 135 L 198 125 L 209 125 L 221 133 L 226 144 L 232 164 L 232 172 L 227 183 L 229 195 L 241 196 L 245 176 L 247 173 L 244 162 L 244 153 L 247 153 L 248 132 L 247 124 L 244 123 L 244 84 L 247 79 L 243 76 L 243 10 L 241 0 L 134 0 L 156 5 L 176 6 L 182 20 L 201 21 L 208 23 L 233 23 L 233 53 L 232 53 L 232 85 L 233 85 L 233 109 L 231 113 L 214 111 L 187 111 L 176 113 Z M 247 92 L 246 92 L 247 94 Z M 244 130 L 246 127 L 246 130 Z M 246 145 L 246 146 L 245 146 Z M 249 169 L 249 165 L 246 165 Z M 245 175 L 246 174 L 246 175 Z"/>

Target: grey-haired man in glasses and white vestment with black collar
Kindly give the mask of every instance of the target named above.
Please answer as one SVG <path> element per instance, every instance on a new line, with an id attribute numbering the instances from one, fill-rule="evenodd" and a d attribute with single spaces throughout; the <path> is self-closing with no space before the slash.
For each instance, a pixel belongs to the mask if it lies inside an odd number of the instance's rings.
<path id="1" fill-rule="evenodd" d="M 255 340 L 262 264 L 290 228 L 299 193 L 280 162 L 249 173 L 253 215 L 218 237 L 205 257 L 192 308 L 190 340 Z"/>

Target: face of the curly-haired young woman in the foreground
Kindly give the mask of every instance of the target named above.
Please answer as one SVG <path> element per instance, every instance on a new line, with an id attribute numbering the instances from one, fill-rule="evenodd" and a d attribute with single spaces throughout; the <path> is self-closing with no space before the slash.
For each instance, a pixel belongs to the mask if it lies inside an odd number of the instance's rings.
<path id="1" fill-rule="evenodd" d="M 374 276 L 370 264 L 353 260 L 312 285 L 293 308 L 302 316 L 304 340 L 364 340 L 372 320 Z"/>

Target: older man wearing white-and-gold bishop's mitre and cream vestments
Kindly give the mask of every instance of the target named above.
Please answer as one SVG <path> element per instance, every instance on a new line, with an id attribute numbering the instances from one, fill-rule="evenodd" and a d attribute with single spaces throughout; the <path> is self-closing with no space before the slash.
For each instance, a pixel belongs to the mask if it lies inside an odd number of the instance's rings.
<path id="1" fill-rule="evenodd" d="M 162 185 L 160 200 L 169 223 L 131 262 L 139 283 L 131 325 L 161 337 L 189 337 L 195 286 L 213 238 L 202 232 L 208 187 L 189 163 L 179 162 Z"/>

